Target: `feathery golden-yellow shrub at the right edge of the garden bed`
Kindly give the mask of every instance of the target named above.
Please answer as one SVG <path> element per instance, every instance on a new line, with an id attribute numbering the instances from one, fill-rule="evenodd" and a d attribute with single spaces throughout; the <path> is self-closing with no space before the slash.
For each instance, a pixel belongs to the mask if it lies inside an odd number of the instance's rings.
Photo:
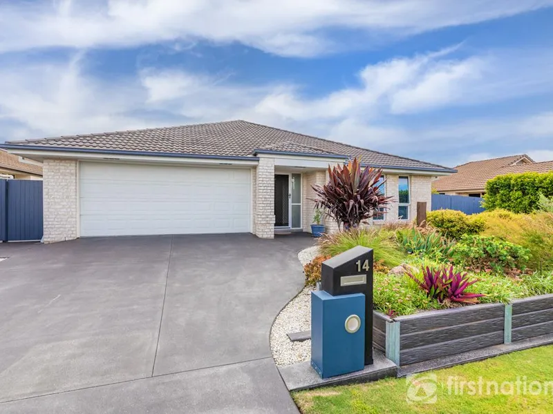
<path id="1" fill-rule="evenodd" d="M 529 268 L 553 269 L 553 213 L 523 215 L 507 210 L 493 210 L 478 216 L 486 223 L 483 235 L 500 237 L 529 250 Z"/>

